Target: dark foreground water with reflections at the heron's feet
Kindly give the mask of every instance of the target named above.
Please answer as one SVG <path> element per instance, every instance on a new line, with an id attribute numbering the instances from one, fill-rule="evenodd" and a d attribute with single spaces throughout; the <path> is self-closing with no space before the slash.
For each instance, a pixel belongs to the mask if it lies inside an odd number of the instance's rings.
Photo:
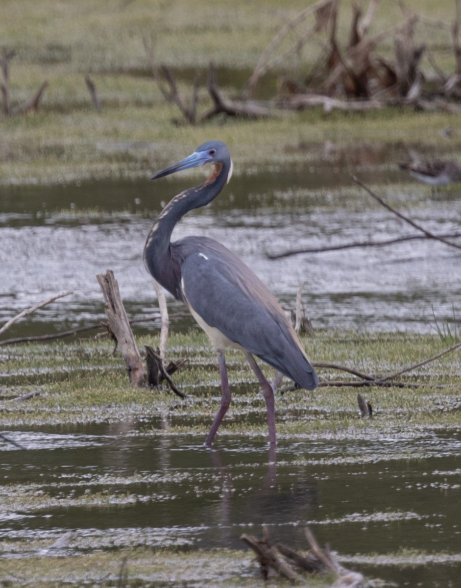
<path id="1" fill-rule="evenodd" d="M 0 514 L 6 558 L 36 555 L 21 540 L 52 544 L 69 531 L 65 546 L 49 554 L 242 549 L 240 534 L 259 536 L 263 524 L 274 543 L 302 550 L 309 525 L 369 577 L 459 585 L 459 432 L 282 440 L 270 456 L 253 439 L 221 437 L 218 449 L 207 450 L 191 437 L 165 436 L 161 419 L 36 427 L 9 437 L 24 449 L 0 445 L 1 499 L 12 505 Z M 23 494 L 21 506 L 15 497 Z"/>

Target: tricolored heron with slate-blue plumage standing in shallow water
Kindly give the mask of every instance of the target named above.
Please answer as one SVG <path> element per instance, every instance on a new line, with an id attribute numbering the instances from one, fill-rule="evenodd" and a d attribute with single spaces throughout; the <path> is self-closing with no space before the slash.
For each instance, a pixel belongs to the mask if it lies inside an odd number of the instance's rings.
<path id="1" fill-rule="evenodd" d="M 211 446 L 230 405 L 230 388 L 224 350 L 240 349 L 258 377 L 266 401 L 269 442 L 276 443 L 274 394 L 253 355 L 313 390 L 319 383 L 315 370 L 279 303 L 259 278 L 229 249 L 208 237 L 185 237 L 171 242 L 176 223 L 186 212 L 210 203 L 232 175 L 232 160 L 221 141 L 207 141 L 192 155 L 173 163 L 152 179 L 182 169 L 213 164 L 211 176 L 169 202 L 149 232 L 144 265 L 152 277 L 176 300 L 182 300 L 218 352 L 221 406 L 205 445 Z"/>

